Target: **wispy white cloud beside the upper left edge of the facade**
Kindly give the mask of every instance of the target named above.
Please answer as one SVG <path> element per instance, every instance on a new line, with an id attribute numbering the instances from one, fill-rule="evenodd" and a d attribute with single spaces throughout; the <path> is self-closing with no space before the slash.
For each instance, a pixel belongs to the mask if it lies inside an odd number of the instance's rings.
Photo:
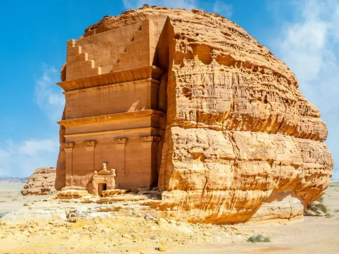
<path id="1" fill-rule="evenodd" d="M 59 80 L 57 69 L 43 64 L 42 76 L 35 80 L 34 102 L 52 121 L 61 118 L 65 99 L 56 82 Z"/>

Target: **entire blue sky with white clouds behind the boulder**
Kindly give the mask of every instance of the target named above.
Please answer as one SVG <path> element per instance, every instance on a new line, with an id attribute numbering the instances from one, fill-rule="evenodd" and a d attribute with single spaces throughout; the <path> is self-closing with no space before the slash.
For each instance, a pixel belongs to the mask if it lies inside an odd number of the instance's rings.
<path id="1" fill-rule="evenodd" d="M 241 25 L 296 74 L 339 161 L 339 0 L 11 0 L 0 8 L 0 177 L 56 165 L 64 99 L 55 83 L 67 40 L 143 3 L 204 9 Z"/>

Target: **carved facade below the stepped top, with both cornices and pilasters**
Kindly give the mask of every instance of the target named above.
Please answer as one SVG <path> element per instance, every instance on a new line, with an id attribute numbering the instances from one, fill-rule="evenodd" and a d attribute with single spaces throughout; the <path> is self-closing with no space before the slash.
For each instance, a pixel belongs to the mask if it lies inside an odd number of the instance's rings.
<path id="1" fill-rule="evenodd" d="M 166 114 L 156 110 L 160 74 L 159 68 L 144 66 L 58 83 L 66 98 L 58 122 L 66 147 L 60 152 L 65 177 L 59 185 L 98 192 L 93 175 L 103 163 L 115 170 L 113 188 L 157 185 L 158 146 L 166 126 Z"/>

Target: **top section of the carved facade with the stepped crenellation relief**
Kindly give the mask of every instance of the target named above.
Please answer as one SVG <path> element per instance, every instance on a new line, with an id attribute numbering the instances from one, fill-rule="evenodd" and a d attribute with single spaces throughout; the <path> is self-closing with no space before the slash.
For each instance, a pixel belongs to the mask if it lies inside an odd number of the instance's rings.
<path id="1" fill-rule="evenodd" d="M 151 66 L 157 35 L 164 21 L 164 17 L 155 21 L 145 19 L 133 25 L 68 41 L 66 79 Z"/>

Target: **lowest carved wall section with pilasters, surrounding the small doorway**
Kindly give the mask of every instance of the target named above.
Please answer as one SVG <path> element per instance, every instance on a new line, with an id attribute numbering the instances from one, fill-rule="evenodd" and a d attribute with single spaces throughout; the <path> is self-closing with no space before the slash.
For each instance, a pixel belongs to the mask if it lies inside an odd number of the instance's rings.
<path id="1" fill-rule="evenodd" d="M 103 162 L 107 163 L 108 169 L 115 169 L 115 188 L 147 188 L 157 182 L 155 154 L 158 140 L 140 140 L 139 136 L 124 139 L 126 143 L 98 137 L 95 147 L 90 150 L 86 149 L 84 142 L 74 143 L 73 151 L 66 159 L 66 163 L 72 164 L 72 179 L 66 182 L 66 186 L 91 191 L 94 171 L 100 171 Z"/>

